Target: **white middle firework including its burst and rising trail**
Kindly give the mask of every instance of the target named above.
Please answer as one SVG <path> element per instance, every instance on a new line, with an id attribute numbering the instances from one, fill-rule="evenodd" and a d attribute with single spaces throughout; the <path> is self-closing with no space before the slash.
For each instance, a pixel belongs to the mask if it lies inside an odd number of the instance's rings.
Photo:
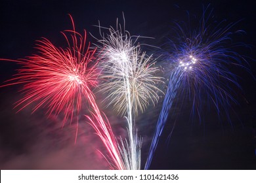
<path id="1" fill-rule="evenodd" d="M 142 140 L 137 137 L 135 116 L 144 112 L 150 103 L 158 101 L 156 84 L 161 82 L 161 78 L 154 76 L 158 69 L 153 67 L 152 56 L 146 56 L 136 44 L 138 37 L 133 41 L 133 37 L 127 31 L 123 33 L 121 28 L 110 27 L 108 30 L 109 34 L 102 35 L 102 40 L 99 40 L 103 45 L 99 46 L 104 78 L 101 86 L 108 93 L 108 106 L 113 105 L 121 116 L 126 116 L 129 141 L 121 141 L 120 147 L 125 167 L 140 169 Z"/>

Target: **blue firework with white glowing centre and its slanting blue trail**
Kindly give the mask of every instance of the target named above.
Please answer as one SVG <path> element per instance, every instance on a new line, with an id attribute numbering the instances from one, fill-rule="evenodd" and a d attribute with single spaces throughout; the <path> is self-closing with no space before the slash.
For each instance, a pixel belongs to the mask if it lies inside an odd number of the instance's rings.
<path id="1" fill-rule="evenodd" d="M 240 88 L 236 76 L 228 69 L 231 65 L 240 65 L 244 61 L 242 56 L 228 46 L 232 35 L 230 28 L 234 24 L 209 24 L 212 12 L 205 16 L 206 10 L 198 28 L 192 29 L 189 26 L 189 29 L 184 29 L 181 24 L 176 24 L 177 37 L 169 41 L 171 50 L 165 54 L 165 59 L 169 61 L 172 71 L 145 169 L 150 167 L 178 93 L 180 97 L 188 96 L 192 100 L 192 114 L 198 114 L 200 117 L 203 105 L 213 104 L 218 115 L 222 110 L 228 116 L 230 101 L 234 101 L 232 88 Z"/>

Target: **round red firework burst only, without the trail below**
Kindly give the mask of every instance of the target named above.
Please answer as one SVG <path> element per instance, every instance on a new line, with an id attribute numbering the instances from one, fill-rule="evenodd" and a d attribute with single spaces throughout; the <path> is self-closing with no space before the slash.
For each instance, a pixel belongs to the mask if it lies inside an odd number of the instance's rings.
<path id="1" fill-rule="evenodd" d="M 71 33 L 72 42 L 67 33 Z M 75 29 L 64 31 L 62 34 L 68 42 L 68 48 L 65 50 L 43 39 L 36 44 L 39 54 L 27 59 L 5 59 L 22 67 L 18 69 L 18 74 L 3 86 L 24 84 L 21 90 L 24 98 L 15 106 L 20 107 L 19 110 L 36 101 L 33 112 L 39 107 L 47 107 L 47 113 L 56 116 L 63 112 L 63 122 L 66 123 L 68 118 L 72 120 L 75 111 L 79 113 L 83 97 L 86 99 L 90 88 L 97 84 L 96 67 L 91 64 L 95 59 L 96 50 L 89 50 L 89 46 L 85 50 L 86 32 L 84 37 L 75 32 Z"/>

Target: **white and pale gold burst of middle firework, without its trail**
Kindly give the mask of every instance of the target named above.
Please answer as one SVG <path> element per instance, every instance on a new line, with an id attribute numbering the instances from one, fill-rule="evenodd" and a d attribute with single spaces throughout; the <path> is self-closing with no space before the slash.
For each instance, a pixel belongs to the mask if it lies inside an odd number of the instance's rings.
<path id="1" fill-rule="evenodd" d="M 109 30 L 110 35 L 100 40 L 104 45 L 99 63 L 104 72 L 102 90 L 108 93 L 108 106 L 113 105 L 121 116 L 127 114 L 127 95 L 131 95 L 131 108 L 137 116 L 159 99 L 156 84 L 161 78 L 154 76 L 158 68 L 154 67 L 152 56 L 146 56 L 129 33 L 123 35 L 120 29 L 116 31 L 112 27 Z"/>

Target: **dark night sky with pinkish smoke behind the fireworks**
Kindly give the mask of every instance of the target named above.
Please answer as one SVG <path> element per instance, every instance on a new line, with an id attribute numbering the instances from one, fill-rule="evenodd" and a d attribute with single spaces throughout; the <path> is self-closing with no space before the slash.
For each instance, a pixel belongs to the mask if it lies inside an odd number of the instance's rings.
<path id="1" fill-rule="evenodd" d="M 45 37 L 61 46 L 60 31 L 71 29 L 68 14 L 74 18 L 76 30 L 86 29 L 98 35 L 100 24 L 116 25 L 116 18 L 125 14 L 125 25 L 131 35 L 154 37 L 147 44 L 161 46 L 169 37 L 173 20 L 186 21 L 191 16 L 202 16 L 202 7 L 210 1 L 0 1 L 0 58 L 19 59 L 35 52 L 35 40 Z M 245 34 L 238 41 L 251 45 L 236 50 L 249 56 L 251 72 L 255 75 L 256 16 L 251 1 L 214 1 L 217 20 L 236 22 L 235 29 Z M 92 37 L 89 41 L 95 41 Z M 148 50 L 155 50 L 147 48 Z M 161 65 L 161 61 L 159 61 Z M 18 66 L 0 61 L 0 83 L 11 78 Z M 255 80 L 245 71 L 234 71 L 243 92 L 235 96 L 238 105 L 232 105 L 230 123 L 216 112 L 205 112 L 203 122 L 190 118 L 189 105 L 174 110 L 169 117 L 151 169 L 256 169 L 256 99 Z M 16 114 L 13 103 L 22 97 L 21 86 L 0 88 L 0 168 L 1 169 L 107 169 L 107 163 L 96 149 L 104 152 L 93 129 L 81 123 L 79 140 L 74 146 L 74 125 L 61 127 L 58 119 L 47 118 L 44 109 L 31 114 L 28 107 Z M 100 98 L 98 99 L 100 100 Z M 139 133 L 144 138 L 142 163 L 147 156 L 154 124 L 161 102 L 148 108 L 137 120 Z M 125 132 L 121 118 L 110 109 L 105 112 L 112 122 L 114 133 Z M 150 118 L 148 115 L 151 115 Z M 81 116 L 83 119 L 83 116 Z M 170 141 L 167 137 L 176 122 Z M 123 122 L 122 122 L 123 123 Z"/>

